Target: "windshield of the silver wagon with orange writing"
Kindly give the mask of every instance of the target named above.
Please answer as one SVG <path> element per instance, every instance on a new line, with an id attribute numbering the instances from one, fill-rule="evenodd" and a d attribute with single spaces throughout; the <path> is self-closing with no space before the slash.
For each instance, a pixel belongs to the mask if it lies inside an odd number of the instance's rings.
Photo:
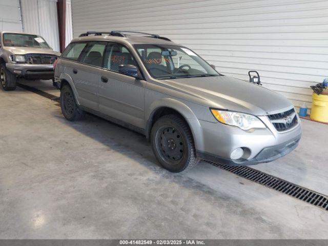
<path id="1" fill-rule="evenodd" d="M 134 45 L 152 77 L 189 78 L 220 74 L 192 50 L 171 45 Z"/>

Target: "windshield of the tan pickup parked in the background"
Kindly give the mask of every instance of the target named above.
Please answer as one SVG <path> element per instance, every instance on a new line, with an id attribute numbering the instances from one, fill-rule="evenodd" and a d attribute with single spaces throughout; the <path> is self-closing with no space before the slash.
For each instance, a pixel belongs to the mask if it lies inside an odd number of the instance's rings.
<path id="1" fill-rule="evenodd" d="M 4 46 L 50 49 L 42 37 L 22 33 L 4 33 Z"/>

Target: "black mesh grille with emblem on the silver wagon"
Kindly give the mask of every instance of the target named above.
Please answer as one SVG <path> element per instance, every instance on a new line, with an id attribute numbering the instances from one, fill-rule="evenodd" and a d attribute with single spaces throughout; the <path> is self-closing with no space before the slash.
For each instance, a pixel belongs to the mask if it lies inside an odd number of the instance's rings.
<path id="1" fill-rule="evenodd" d="M 297 116 L 294 109 L 268 116 L 278 132 L 286 131 L 297 125 Z"/>

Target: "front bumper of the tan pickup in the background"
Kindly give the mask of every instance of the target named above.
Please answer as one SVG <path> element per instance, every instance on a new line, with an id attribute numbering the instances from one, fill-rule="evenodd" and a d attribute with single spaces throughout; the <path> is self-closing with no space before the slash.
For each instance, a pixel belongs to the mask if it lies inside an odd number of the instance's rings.
<path id="1" fill-rule="evenodd" d="M 17 64 L 7 63 L 7 69 L 19 76 L 28 80 L 34 79 L 53 79 L 53 65 L 32 65 L 32 64 Z"/>

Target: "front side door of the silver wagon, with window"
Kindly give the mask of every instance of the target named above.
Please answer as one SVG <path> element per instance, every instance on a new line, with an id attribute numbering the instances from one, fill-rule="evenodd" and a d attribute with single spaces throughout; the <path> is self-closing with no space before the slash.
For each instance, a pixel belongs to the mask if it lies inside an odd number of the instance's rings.
<path id="1" fill-rule="evenodd" d="M 133 126 L 144 128 L 146 81 L 120 74 L 119 65 L 137 66 L 127 47 L 109 43 L 99 83 L 99 110 Z"/>

